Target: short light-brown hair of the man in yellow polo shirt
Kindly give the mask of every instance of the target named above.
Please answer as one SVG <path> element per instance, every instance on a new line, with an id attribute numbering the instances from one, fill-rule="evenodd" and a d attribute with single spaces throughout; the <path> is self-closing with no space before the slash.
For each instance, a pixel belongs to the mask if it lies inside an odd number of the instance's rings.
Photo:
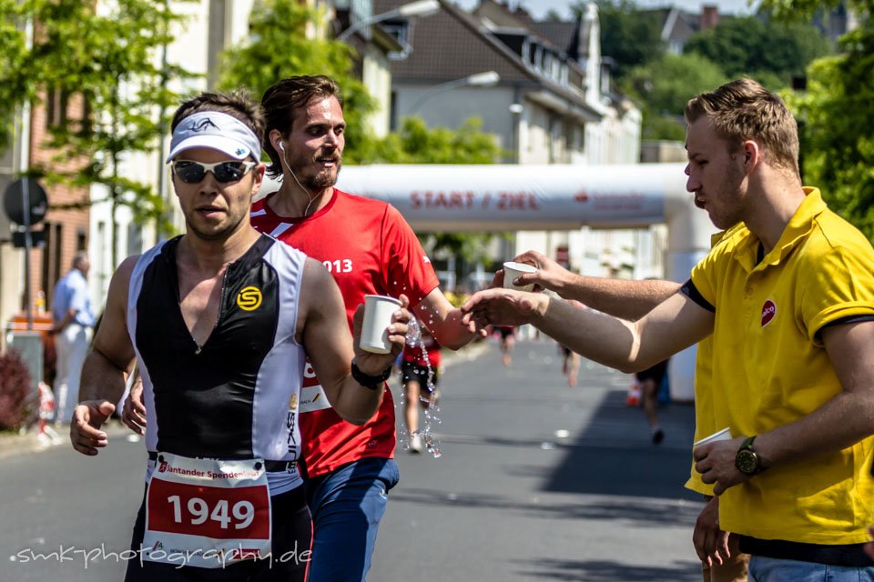
<path id="1" fill-rule="evenodd" d="M 763 146 L 770 164 L 799 174 L 798 123 L 783 100 L 756 81 L 737 79 L 696 95 L 686 104 L 685 116 L 689 125 L 710 118 L 732 153 L 753 140 Z"/>

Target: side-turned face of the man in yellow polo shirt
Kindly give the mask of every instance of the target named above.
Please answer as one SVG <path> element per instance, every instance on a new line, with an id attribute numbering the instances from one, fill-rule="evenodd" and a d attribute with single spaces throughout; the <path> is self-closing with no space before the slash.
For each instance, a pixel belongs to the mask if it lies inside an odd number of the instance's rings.
<path id="1" fill-rule="evenodd" d="M 744 151 L 731 153 L 726 140 L 716 135 L 709 117 L 699 117 L 686 133 L 686 190 L 695 195 L 695 206 L 707 211 L 717 228 L 741 222 L 747 202 Z"/>

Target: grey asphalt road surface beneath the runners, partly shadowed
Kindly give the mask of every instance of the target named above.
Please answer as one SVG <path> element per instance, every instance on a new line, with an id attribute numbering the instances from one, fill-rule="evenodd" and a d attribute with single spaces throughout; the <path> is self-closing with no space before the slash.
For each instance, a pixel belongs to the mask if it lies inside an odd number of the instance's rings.
<path id="1" fill-rule="evenodd" d="M 442 457 L 399 447 L 369 579 L 699 580 L 702 502 L 682 487 L 692 407 L 660 411 L 655 447 L 625 406 L 629 376 L 584 362 L 567 386 L 551 341 L 520 342 L 510 367 L 493 340 L 473 351 L 442 378 Z M 122 578 L 113 552 L 127 549 L 146 458 L 126 437 L 93 458 L 66 445 L 0 457 L 0 582 Z"/>

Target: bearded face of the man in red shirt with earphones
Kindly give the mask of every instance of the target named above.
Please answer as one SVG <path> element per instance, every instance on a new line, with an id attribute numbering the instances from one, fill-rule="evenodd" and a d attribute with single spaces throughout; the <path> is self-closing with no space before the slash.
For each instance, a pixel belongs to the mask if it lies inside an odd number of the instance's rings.
<path id="1" fill-rule="evenodd" d="M 345 131 L 346 120 L 336 97 L 315 97 L 297 111 L 286 140 L 286 163 L 300 184 L 320 190 L 337 183 Z"/>

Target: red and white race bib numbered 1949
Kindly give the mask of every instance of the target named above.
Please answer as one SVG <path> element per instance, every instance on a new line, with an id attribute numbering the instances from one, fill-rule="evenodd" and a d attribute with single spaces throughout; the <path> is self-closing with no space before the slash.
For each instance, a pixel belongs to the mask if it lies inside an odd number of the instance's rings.
<path id="1" fill-rule="evenodd" d="M 143 559 L 225 567 L 268 557 L 270 496 L 264 462 L 162 453 L 146 494 Z"/>

